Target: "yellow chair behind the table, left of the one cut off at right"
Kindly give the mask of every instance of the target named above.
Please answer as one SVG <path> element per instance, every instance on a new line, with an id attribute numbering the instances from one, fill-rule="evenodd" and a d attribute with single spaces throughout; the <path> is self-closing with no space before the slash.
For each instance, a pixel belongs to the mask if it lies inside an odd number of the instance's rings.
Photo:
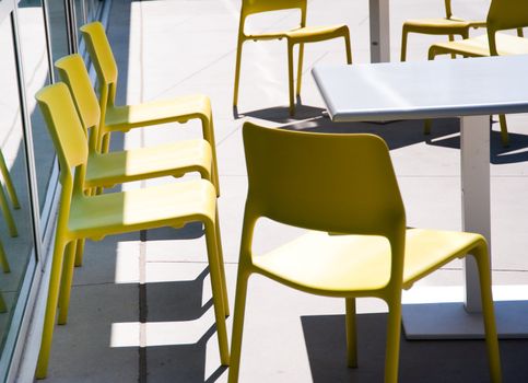
<path id="1" fill-rule="evenodd" d="M 469 28 L 485 27 L 485 21 L 464 20 L 453 15 L 451 0 L 445 1 L 446 16 L 439 19 L 416 19 L 407 20 L 401 31 L 401 61 L 407 59 L 407 37 L 409 33 L 420 33 L 424 35 L 447 35 L 449 42 L 455 36 L 462 38 L 469 37 Z M 455 58 L 455 55 L 453 55 Z"/>

